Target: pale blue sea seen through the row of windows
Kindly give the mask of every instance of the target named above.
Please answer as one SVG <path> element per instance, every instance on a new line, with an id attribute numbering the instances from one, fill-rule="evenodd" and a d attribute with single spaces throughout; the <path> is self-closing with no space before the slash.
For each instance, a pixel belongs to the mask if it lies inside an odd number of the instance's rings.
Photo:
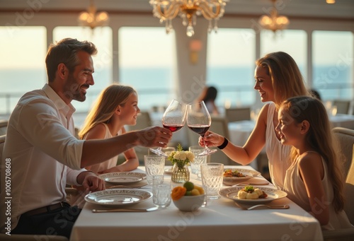
<path id="1" fill-rule="evenodd" d="M 350 80 L 349 69 L 333 75 L 329 68 L 330 66 L 319 66 L 314 69 L 314 76 L 322 76 L 315 83 L 315 88 L 319 90 L 322 98 L 351 99 L 353 83 L 346 81 Z M 253 70 L 253 68 L 208 69 L 207 86 L 215 86 L 219 90 L 217 105 L 224 106 L 225 102 L 232 106 L 253 105 L 258 98 L 256 91 L 253 90 Z M 175 83 L 166 81 L 171 79 L 170 76 L 171 71 L 163 68 L 122 69 L 120 83 L 135 88 L 139 96 L 139 108 L 149 110 L 154 106 L 168 105 L 169 101 L 175 98 L 171 88 Z M 94 78 L 95 84 L 90 86 L 86 101 L 73 102 L 77 112 L 89 111 L 101 90 L 112 83 L 110 71 L 107 69 L 97 71 Z M 24 93 L 42 88 L 45 83 L 47 74 L 43 69 L 0 69 L 0 114 L 6 114 L 8 109 L 11 112 Z"/>

